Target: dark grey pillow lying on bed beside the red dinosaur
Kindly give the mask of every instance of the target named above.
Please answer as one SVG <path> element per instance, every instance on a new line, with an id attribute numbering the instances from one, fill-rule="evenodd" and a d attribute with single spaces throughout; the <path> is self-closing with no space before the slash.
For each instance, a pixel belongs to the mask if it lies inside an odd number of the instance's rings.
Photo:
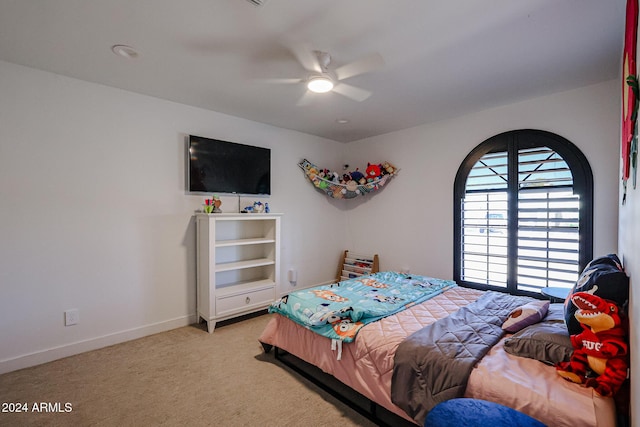
<path id="1" fill-rule="evenodd" d="M 504 350 L 514 356 L 556 365 L 571 359 L 573 345 L 564 321 L 544 320 L 505 339 Z"/>

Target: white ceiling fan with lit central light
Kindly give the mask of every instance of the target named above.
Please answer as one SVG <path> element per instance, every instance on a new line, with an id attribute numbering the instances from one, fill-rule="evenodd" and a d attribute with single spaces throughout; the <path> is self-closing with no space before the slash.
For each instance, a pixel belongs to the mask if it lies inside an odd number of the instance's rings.
<path id="1" fill-rule="evenodd" d="M 336 69 L 330 69 L 331 55 L 329 53 L 310 50 L 302 46 L 290 46 L 290 49 L 309 74 L 301 79 L 269 79 L 269 81 L 304 83 L 308 91 L 300 98 L 298 105 L 304 105 L 311 100 L 309 92 L 326 93 L 332 91 L 354 101 L 362 102 L 371 96 L 371 92 L 343 83 L 343 80 L 375 71 L 384 65 L 382 56 L 379 53 L 374 53 Z"/>

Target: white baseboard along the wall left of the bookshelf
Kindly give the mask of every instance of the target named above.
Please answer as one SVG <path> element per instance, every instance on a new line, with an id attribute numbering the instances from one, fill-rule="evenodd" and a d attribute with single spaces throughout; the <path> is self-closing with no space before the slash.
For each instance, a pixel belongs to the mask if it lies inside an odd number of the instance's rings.
<path id="1" fill-rule="evenodd" d="M 24 369 L 43 363 L 52 362 L 63 357 L 73 356 L 75 354 L 84 353 L 86 351 L 97 350 L 99 348 L 108 347 L 114 344 L 120 344 L 126 341 L 135 340 L 146 337 L 148 335 L 160 332 L 170 331 L 171 329 L 181 328 L 183 326 L 196 323 L 196 315 L 177 317 L 175 319 L 165 320 L 151 325 L 141 326 L 138 328 L 128 329 L 126 331 L 115 332 L 113 334 L 103 335 L 101 337 L 90 338 L 77 341 L 70 344 L 53 347 L 11 359 L 0 360 L 0 374 L 18 369 Z"/>

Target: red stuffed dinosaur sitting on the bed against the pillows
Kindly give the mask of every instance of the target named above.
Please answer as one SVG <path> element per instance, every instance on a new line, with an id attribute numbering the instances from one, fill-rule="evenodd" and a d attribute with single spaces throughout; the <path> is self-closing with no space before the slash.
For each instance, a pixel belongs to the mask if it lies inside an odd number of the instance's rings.
<path id="1" fill-rule="evenodd" d="M 560 362 L 560 376 L 593 387 L 602 396 L 612 396 L 627 378 L 628 344 L 626 328 L 618 306 L 589 292 L 576 292 L 571 302 L 578 307 L 575 318 L 583 331 L 571 335 L 573 355 Z M 589 371 L 596 377 L 587 378 Z"/>

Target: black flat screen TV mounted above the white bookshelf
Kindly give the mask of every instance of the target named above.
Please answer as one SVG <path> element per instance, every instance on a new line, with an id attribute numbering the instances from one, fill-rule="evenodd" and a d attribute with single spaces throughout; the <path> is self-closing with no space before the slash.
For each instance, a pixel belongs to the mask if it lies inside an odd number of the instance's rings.
<path id="1" fill-rule="evenodd" d="M 271 150 L 189 136 L 190 193 L 271 194 Z"/>

